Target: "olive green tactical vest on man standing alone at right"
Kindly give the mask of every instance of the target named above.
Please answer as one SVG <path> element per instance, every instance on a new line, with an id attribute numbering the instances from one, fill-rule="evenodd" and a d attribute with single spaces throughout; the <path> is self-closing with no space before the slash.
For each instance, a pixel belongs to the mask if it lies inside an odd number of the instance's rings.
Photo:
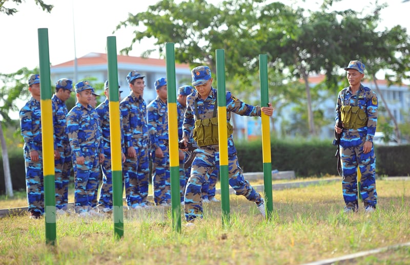
<path id="1" fill-rule="evenodd" d="M 356 94 L 356 106 L 341 106 L 340 114 L 343 122 L 343 127 L 346 129 L 358 129 L 367 126 L 367 114 L 358 106 L 359 92 L 361 86 Z M 344 103 L 344 94 L 342 104 Z"/>

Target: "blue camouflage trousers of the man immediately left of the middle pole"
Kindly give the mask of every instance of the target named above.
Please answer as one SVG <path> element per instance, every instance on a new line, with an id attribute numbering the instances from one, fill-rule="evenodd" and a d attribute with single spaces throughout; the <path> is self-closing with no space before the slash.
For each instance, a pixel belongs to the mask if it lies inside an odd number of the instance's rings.
<path id="1" fill-rule="evenodd" d="M 171 203 L 171 173 L 170 173 L 170 153 L 165 146 L 164 140 L 159 140 L 159 146 L 163 152 L 163 158 L 156 158 L 152 153 L 152 188 L 154 192 L 154 202 L 156 205 Z"/>

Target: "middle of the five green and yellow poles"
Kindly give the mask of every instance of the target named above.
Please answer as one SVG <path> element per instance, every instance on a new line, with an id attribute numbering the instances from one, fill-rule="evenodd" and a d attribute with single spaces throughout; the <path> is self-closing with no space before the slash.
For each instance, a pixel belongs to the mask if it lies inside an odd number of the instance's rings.
<path id="1" fill-rule="evenodd" d="M 178 114 L 176 107 L 174 43 L 165 44 L 167 64 L 168 133 L 171 174 L 172 227 L 181 232 L 181 204 L 179 194 Z"/>

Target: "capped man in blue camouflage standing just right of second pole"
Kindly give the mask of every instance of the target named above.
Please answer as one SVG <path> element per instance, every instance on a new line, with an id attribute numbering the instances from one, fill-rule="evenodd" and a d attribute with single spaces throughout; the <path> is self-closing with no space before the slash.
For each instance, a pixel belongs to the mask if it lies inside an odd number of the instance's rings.
<path id="1" fill-rule="evenodd" d="M 142 98 L 145 81 L 138 71 L 127 75 L 131 93 L 119 104 L 126 150 L 124 182 L 129 208 L 137 209 L 152 205 L 147 201 L 149 183 L 149 152 L 147 105 Z"/>

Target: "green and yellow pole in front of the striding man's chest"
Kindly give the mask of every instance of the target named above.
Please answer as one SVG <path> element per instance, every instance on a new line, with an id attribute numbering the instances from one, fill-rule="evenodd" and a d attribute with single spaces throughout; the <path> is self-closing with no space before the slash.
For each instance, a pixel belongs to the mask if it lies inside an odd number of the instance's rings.
<path id="1" fill-rule="evenodd" d="M 229 207 L 229 164 L 227 138 L 227 97 L 225 89 L 225 54 L 216 50 L 216 80 L 218 98 L 219 175 L 221 180 L 222 225 L 230 222 Z"/>

